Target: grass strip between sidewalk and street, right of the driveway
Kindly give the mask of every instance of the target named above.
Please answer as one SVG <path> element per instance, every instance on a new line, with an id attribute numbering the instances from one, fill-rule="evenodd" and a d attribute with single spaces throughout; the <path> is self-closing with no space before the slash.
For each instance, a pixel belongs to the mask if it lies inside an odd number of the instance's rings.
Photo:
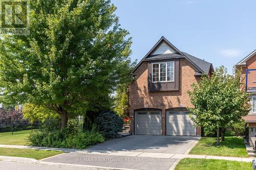
<path id="1" fill-rule="evenodd" d="M 250 162 L 238 162 L 216 159 L 182 159 L 175 170 L 251 170 Z"/>

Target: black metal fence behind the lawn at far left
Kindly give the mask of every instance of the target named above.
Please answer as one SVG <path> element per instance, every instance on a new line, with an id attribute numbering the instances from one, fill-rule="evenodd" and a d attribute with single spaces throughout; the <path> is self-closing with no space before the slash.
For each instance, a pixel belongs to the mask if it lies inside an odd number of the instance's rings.
<path id="1" fill-rule="evenodd" d="M 39 122 L 30 123 L 26 120 L 2 120 L 0 121 L 0 135 L 2 134 L 15 134 L 15 133 L 30 133 L 33 129 L 38 129 Z"/>

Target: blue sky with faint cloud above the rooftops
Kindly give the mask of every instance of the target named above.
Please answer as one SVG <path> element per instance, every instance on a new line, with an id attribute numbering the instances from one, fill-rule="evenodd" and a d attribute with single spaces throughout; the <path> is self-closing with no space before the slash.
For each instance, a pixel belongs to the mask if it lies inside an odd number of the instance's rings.
<path id="1" fill-rule="evenodd" d="M 121 27 L 141 60 L 164 36 L 179 50 L 214 67 L 234 64 L 256 49 L 256 1 L 112 0 Z"/>

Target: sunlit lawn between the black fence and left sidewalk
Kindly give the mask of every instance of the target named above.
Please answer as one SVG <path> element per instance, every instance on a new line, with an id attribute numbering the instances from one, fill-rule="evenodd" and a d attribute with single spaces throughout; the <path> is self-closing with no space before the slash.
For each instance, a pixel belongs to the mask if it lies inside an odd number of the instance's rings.
<path id="1" fill-rule="evenodd" d="M 31 130 L 17 131 L 12 134 L 0 134 L 0 144 L 29 145 L 26 140 Z"/>

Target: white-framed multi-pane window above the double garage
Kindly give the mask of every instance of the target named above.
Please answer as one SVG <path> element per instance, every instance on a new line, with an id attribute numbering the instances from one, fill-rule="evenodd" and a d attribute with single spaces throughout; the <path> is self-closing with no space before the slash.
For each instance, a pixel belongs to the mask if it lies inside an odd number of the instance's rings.
<path id="1" fill-rule="evenodd" d="M 152 64 L 153 82 L 174 81 L 174 62 L 153 63 Z"/>

